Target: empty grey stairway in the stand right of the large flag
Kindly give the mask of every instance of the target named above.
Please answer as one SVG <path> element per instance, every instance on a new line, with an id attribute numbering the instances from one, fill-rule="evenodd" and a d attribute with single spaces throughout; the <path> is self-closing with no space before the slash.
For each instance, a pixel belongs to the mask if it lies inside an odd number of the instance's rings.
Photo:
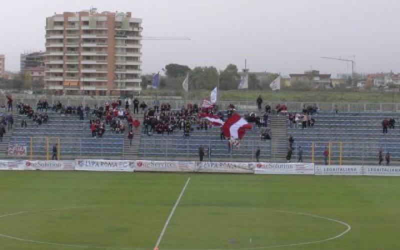
<path id="1" fill-rule="evenodd" d="M 287 127 L 285 115 L 272 115 L 271 126 L 271 161 L 285 162 L 287 154 Z"/>

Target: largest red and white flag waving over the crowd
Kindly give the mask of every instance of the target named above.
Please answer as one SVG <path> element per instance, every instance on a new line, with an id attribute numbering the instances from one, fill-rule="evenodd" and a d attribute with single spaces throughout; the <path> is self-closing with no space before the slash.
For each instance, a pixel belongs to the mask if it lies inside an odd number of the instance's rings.
<path id="1" fill-rule="evenodd" d="M 244 136 L 245 130 L 250 129 L 252 125 L 239 114 L 233 113 L 229 119 L 223 123 L 223 136 L 226 138 L 241 139 Z"/>

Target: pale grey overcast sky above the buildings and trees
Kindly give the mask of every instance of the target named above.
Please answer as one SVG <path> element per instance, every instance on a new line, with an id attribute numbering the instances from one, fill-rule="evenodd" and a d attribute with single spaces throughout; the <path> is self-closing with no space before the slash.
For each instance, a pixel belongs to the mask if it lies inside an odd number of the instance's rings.
<path id="1" fill-rule="evenodd" d="M 250 71 L 350 73 L 351 64 L 320 56 L 355 55 L 358 72 L 400 72 L 397 0 L 7 0 L 0 8 L 0 54 L 19 70 L 19 54 L 44 50 L 45 17 L 54 12 L 131 11 L 143 36 L 142 73 L 174 62 L 228 63 Z"/>

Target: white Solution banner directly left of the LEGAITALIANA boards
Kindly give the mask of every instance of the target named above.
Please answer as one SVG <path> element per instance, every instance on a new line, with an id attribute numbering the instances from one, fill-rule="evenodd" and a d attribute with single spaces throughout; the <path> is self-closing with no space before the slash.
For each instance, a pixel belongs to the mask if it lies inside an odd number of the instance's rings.
<path id="1" fill-rule="evenodd" d="M 313 163 L 269 163 L 257 162 L 255 174 L 314 174 Z"/>

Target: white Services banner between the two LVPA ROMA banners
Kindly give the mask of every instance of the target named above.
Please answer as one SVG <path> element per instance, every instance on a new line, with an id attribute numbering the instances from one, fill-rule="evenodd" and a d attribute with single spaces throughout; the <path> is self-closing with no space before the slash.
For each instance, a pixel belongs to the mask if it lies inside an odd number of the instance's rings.
<path id="1" fill-rule="evenodd" d="M 192 172 L 194 161 L 136 160 L 135 171 Z"/>

